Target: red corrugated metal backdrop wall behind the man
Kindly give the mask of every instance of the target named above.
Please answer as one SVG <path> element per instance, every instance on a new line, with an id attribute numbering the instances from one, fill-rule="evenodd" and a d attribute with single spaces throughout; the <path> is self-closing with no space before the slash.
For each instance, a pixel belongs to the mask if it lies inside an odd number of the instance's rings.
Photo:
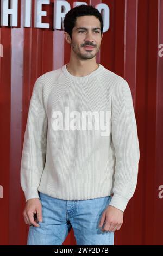
<path id="1" fill-rule="evenodd" d="M 34 2 L 34 1 L 32 1 Z M 73 7 L 73 1 L 68 1 Z M 88 4 L 101 3 L 98 0 Z M 19 3 L 19 24 L 24 1 Z M 163 0 L 103 0 L 110 7 L 110 28 L 104 33 L 97 55 L 109 70 L 124 77 L 130 86 L 140 142 L 139 178 L 116 245 L 163 244 Z M 43 5 L 51 20 L 50 29 L 0 27 L 0 122 L 1 172 L 0 244 L 26 244 L 28 227 L 22 211 L 20 162 L 24 130 L 32 88 L 36 78 L 68 63 L 70 47 L 62 30 L 53 30 L 53 4 Z M 34 8 L 33 8 L 34 9 Z M 21 15 L 20 15 L 21 14 Z M 33 11 L 34 21 L 34 11 Z M 162 193 L 163 194 L 163 193 Z M 64 245 L 75 245 L 73 230 Z"/>

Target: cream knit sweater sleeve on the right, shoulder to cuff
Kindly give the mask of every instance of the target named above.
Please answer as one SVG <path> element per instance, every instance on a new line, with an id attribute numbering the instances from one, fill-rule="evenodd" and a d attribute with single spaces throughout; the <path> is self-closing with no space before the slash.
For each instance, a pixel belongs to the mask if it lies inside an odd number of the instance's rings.
<path id="1" fill-rule="evenodd" d="M 140 151 L 132 95 L 123 78 L 112 92 L 111 135 L 116 163 L 110 205 L 124 212 L 136 189 Z"/>

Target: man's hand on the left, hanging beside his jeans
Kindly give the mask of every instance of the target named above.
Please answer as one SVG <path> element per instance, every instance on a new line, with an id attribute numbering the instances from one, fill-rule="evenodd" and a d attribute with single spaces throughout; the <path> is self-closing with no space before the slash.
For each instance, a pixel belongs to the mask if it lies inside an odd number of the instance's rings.
<path id="1" fill-rule="evenodd" d="M 34 214 L 37 218 L 34 218 Z M 42 222 L 42 205 L 39 198 L 32 198 L 27 200 L 26 206 L 23 211 L 24 221 L 28 225 L 40 227 L 37 222 Z"/>

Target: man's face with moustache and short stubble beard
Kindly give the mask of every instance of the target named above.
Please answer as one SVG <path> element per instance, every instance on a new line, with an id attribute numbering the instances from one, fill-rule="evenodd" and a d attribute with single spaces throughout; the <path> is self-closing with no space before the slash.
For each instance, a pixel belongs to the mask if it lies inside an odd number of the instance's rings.
<path id="1" fill-rule="evenodd" d="M 100 21 L 95 16 L 77 17 L 72 30 L 71 49 L 80 59 L 92 59 L 101 45 Z"/>

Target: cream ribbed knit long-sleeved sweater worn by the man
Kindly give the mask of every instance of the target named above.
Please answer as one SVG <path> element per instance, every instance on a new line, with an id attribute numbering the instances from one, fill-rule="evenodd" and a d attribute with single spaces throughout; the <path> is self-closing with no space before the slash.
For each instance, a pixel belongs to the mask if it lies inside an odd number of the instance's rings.
<path id="1" fill-rule="evenodd" d="M 124 211 L 135 192 L 140 158 L 129 85 L 101 64 L 83 77 L 71 75 L 66 65 L 34 84 L 21 159 L 26 201 L 39 198 L 38 191 L 63 200 L 114 194 L 110 205 Z M 65 121 L 65 107 L 81 117 L 83 111 L 110 111 L 110 135 L 65 126 L 54 130 L 53 113 L 60 111 Z"/>

